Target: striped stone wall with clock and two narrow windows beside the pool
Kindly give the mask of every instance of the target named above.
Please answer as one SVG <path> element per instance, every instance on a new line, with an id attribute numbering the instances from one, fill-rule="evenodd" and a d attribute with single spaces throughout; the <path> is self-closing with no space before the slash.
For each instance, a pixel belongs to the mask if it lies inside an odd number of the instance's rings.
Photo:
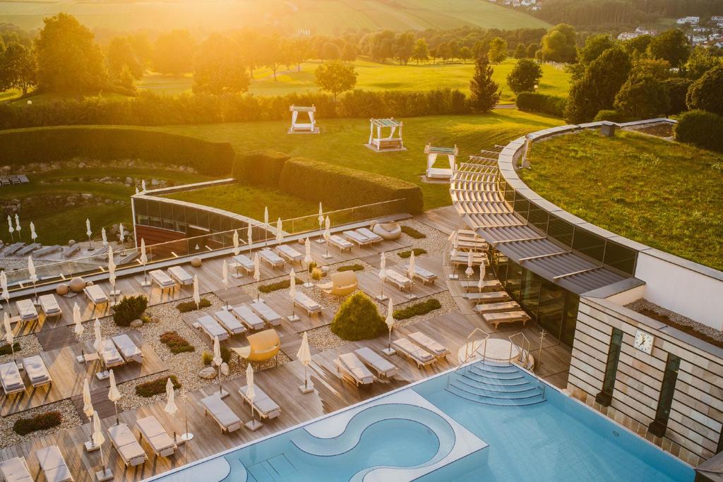
<path id="1" fill-rule="evenodd" d="M 612 403 L 602 391 L 612 329 L 623 331 Z M 654 335 L 651 355 L 633 346 L 636 329 Z M 654 420 L 668 353 L 681 358 L 667 432 L 648 433 Z M 609 418 L 696 466 L 716 452 L 723 424 L 723 350 L 644 317 L 612 301 L 582 296 L 568 390 Z"/>

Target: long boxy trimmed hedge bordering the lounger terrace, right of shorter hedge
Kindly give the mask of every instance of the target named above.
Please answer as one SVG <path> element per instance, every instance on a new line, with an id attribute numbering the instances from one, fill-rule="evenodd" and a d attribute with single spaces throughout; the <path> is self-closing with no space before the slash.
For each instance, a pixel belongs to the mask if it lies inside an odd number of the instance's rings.
<path id="1" fill-rule="evenodd" d="M 279 188 L 336 209 L 404 199 L 397 210 L 419 214 L 424 205 L 422 189 L 416 184 L 304 158 L 292 158 L 284 163 Z M 380 212 L 385 209 L 388 212 L 389 207 L 380 207 Z"/>

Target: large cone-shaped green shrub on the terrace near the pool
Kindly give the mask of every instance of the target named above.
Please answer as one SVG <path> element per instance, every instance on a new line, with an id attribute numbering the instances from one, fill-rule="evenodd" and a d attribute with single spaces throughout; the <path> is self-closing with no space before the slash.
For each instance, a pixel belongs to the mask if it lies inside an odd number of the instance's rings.
<path id="1" fill-rule="evenodd" d="M 331 331 L 343 340 L 369 340 L 387 332 L 387 325 L 377 305 L 359 292 L 341 304 L 331 322 Z"/>

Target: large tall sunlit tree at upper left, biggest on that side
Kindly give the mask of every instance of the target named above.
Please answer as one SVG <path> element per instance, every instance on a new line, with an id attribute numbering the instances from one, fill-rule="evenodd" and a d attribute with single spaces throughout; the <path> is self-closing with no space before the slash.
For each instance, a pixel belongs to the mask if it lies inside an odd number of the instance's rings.
<path id="1" fill-rule="evenodd" d="M 49 92 L 98 92 L 108 83 L 103 53 L 93 33 L 72 15 L 43 19 L 35 40 L 38 88 Z"/>

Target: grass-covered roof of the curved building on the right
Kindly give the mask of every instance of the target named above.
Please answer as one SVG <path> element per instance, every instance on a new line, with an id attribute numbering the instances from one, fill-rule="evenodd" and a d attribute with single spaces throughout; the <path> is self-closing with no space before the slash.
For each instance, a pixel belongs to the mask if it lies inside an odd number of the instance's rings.
<path id="1" fill-rule="evenodd" d="M 524 181 L 574 215 L 723 269 L 723 155 L 632 132 L 584 132 L 534 145 L 531 166 Z"/>

